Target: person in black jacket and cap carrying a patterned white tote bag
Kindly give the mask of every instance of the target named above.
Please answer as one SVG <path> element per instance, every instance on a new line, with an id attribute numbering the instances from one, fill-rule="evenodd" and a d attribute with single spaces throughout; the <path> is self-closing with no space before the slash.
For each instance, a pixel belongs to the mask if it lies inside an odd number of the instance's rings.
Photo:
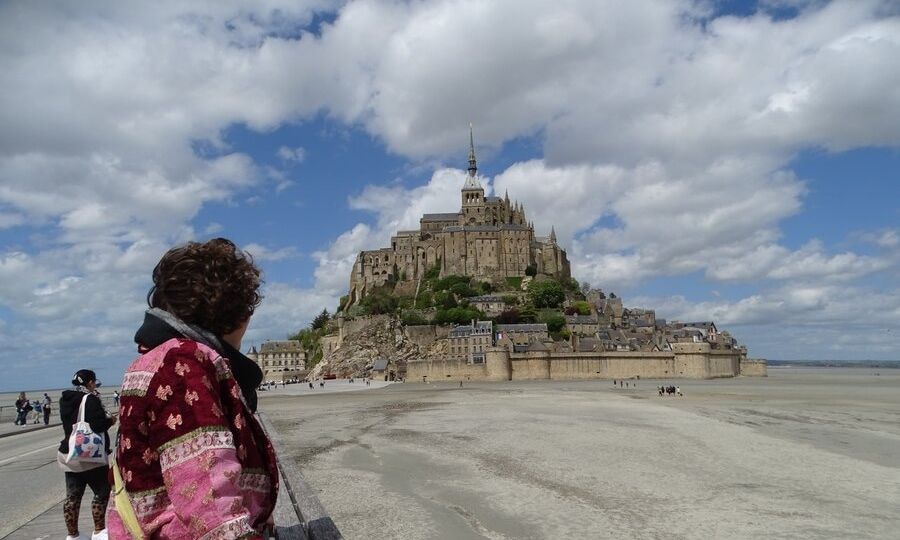
<path id="1" fill-rule="evenodd" d="M 86 538 L 78 532 L 78 514 L 81 510 L 81 498 L 84 490 L 91 486 L 94 498 L 91 501 L 91 515 L 94 519 L 94 534 L 92 540 L 106 540 L 106 506 L 109 503 L 109 465 L 103 463 L 66 463 L 66 455 L 69 453 L 69 436 L 72 434 L 72 425 L 78 421 L 78 409 L 81 400 L 84 403 L 84 420 L 91 425 L 94 433 L 103 433 L 106 439 L 106 454 L 110 453 L 109 428 L 116 423 L 115 417 L 106 413 L 97 387 L 100 382 L 97 375 L 89 369 L 80 369 L 72 378 L 73 390 L 65 390 L 59 399 L 59 416 L 62 420 L 65 436 L 59 443 L 57 460 L 60 467 L 66 472 L 66 500 L 63 504 L 63 516 L 66 520 L 66 529 L 69 536 L 66 540 Z"/>

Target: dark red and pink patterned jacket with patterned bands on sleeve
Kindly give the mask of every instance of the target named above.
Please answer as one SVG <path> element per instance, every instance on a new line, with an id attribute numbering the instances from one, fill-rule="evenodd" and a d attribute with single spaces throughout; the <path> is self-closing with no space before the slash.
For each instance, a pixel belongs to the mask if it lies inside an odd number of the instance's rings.
<path id="1" fill-rule="evenodd" d="M 116 460 L 147 538 L 261 538 L 275 507 L 275 454 L 228 361 L 174 338 L 125 372 Z M 113 499 L 110 538 L 131 538 Z"/>

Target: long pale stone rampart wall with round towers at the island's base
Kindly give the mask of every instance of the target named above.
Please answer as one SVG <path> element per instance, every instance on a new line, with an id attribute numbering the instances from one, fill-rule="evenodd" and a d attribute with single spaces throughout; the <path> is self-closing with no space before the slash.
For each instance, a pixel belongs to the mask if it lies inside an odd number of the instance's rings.
<path id="1" fill-rule="evenodd" d="M 747 360 L 736 350 L 711 349 L 708 343 L 673 344 L 664 352 L 527 352 L 492 347 L 483 364 L 466 360 L 418 360 L 407 363 L 410 381 L 715 379 L 766 376 L 765 360 Z"/>

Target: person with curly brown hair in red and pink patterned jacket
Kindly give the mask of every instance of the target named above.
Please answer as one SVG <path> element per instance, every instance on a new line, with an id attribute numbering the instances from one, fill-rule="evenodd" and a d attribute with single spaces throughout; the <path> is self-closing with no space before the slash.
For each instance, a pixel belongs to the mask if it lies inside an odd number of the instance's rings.
<path id="1" fill-rule="evenodd" d="M 253 416 L 262 371 L 240 352 L 259 286 L 249 255 L 223 238 L 173 248 L 154 268 L 119 404 L 116 466 L 136 520 L 111 503 L 110 537 L 261 538 L 271 525 L 275 455 Z"/>

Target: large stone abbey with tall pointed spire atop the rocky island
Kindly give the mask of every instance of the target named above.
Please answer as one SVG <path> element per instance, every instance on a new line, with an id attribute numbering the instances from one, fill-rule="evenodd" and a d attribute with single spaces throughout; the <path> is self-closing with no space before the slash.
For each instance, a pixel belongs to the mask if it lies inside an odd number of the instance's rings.
<path id="1" fill-rule="evenodd" d="M 350 277 L 350 302 L 356 303 L 391 276 L 417 282 L 430 268 L 440 275 L 462 275 L 483 281 L 538 274 L 569 278 L 566 252 L 549 236 L 535 236 L 525 207 L 504 197 L 485 197 L 478 179 L 475 143 L 469 131 L 469 168 L 460 193 L 459 212 L 425 214 L 419 229 L 398 231 L 391 246 L 361 251 Z"/>

